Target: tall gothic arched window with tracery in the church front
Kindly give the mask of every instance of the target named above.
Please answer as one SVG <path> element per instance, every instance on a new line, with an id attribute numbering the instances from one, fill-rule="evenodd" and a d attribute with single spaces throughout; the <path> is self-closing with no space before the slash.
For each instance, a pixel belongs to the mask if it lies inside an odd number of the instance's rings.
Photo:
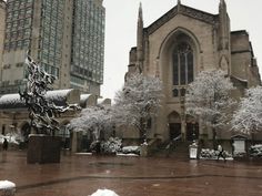
<path id="1" fill-rule="evenodd" d="M 190 82 L 193 81 L 193 75 L 194 75 L 193 51 L 189 43 L 181 42 L 173 50 L 173 85 L 174 87 L 178 85 L 189 84 Z"/>

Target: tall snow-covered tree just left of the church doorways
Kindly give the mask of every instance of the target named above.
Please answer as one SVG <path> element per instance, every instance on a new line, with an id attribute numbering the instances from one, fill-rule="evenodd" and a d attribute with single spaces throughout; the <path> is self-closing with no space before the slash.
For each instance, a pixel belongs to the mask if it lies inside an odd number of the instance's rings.
<path id="1" fill-rule="evenodd" d="M 159 78 L 133 74 L 114 97 L 114 118 L 118 124 L 132 125 L 147 140 L 147 126 L 157 114 L 162 97 Z"/>

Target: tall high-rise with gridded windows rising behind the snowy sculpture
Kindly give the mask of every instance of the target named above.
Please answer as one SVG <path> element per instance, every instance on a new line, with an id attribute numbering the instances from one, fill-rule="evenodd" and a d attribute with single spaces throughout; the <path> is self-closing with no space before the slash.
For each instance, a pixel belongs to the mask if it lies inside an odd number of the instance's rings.
<path id="1" fill-rule="evenodd" d="M 102 0 L 8 0 L 0 94 L 27 78 L 27 52 L 50 74 L 54 89 L 100 95 L 103 83 Z"/>

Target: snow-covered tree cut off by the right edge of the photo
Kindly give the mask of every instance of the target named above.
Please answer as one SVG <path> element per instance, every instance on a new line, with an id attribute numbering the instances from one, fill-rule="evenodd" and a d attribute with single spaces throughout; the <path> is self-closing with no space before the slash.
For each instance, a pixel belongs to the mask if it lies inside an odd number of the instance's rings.
<path id="1" fill-rule="evenodd" d="M 232 127 L 243 134 L 262 132 L 262 86 L 246 90 L 233 115 Z"/>

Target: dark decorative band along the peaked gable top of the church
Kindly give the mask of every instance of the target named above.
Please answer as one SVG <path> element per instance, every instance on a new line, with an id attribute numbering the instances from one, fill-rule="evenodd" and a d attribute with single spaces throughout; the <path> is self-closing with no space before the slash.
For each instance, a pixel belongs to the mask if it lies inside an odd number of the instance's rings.
<path id="1" fill-rule="evenodd" d="M 169 20 L 174 18 L 177 14 L 183 14 L 190 18 L 194 18 L 196 20 L 201 20 L 203 22 L 214 24 L 218 18 L 218 14 L 208 13 L 194 8 L 190 8 L 183 4 L 175 6 L 167 13 L 164 13 L 161 18 L 155 20 L 152 24 L 145 28 L 145 32 L 148 34 L 152 34 L 155 30 L 158 30 L 161 25 L 167 23 Z"/>

